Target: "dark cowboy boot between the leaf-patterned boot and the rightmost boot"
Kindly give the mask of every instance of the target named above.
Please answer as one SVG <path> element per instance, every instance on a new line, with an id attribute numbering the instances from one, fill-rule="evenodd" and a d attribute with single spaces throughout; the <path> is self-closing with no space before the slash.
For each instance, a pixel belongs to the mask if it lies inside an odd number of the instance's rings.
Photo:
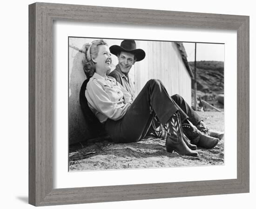
<path id="1" fill-rule="evenodd" d="M 219 142 L 218 138 L 204 135 L 193 124 L 182 124 L 182 130 L 192 144 L 206 149 L 214 148 Z"/>

